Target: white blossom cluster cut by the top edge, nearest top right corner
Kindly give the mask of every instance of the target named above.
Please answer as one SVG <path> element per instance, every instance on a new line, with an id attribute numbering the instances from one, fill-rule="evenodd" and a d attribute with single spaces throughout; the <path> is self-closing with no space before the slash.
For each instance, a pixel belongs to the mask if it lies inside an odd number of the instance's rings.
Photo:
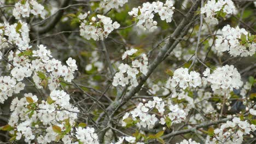
<path id="1" fill-rule="evenodd" d="M 206 14 L 205 21 L 210 25 L 217 25 L 218 19 L 214 16 L 223 16 L 226 14 L 236 14 L 237 10 L 231 0 L 211 0 L 201 8 L 201 14 Z"/>

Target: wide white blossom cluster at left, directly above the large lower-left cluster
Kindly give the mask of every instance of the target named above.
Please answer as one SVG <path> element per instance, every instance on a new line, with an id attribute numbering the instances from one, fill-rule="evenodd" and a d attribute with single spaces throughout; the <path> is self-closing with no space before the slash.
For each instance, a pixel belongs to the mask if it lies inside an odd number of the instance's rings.
<path id="1" fill-rule="evenodd" d="M 28 49 L 27 51 L 31 51 Z M 75 60 L 68 58 L 66 65 L 62 65 L 57 59 L 50 59 L 51 53 L 46 49 L 45 46 L 39 45 L 38 50 L 32 51 L 33 60 L 31 61 L 30 56 L 25 55 L 26 53 L 19 53 L 16 51 L 14 58 L 9 59 L 13 61 L 13 65 L 16 66 L 11 70 L 11 75 L 18 81 L 29 77 L 33 73 L 33 81 L 37 88 L 46 87 L 48 84 L 51 91 L 60 85 L 61 78 L 67 82 L 71 82 L 74 79 L 74 71 L 77 70 Z"/>

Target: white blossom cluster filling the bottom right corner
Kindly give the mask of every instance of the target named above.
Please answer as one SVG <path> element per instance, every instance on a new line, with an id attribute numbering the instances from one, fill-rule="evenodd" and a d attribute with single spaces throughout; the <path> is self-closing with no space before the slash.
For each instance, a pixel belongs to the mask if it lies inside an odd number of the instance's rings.
<path id="1" fill-rule="evenodd" d="M 241 121 L 235 117 L 232 121 L 227 121 L 220 128 L 214 129 L 213 136 L 207 136 L 206 143 L 243 143 L 243 135 L 249 135 L 255 131 L 255 125 L 247 121 Z"/>

